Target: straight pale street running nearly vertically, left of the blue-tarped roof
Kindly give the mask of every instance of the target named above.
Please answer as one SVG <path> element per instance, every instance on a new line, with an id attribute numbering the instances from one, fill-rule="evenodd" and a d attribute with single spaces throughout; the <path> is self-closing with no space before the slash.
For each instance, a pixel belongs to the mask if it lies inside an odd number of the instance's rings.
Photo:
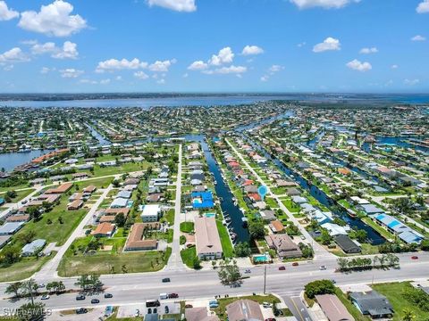
<path id="1" fill-rule="evenodd" d="M 176 200 L 174 204 L 174 230 L 172 235 L 172 255 L 167 270 L 184 269 L 181 262 L 181 144 L 179 145 L 179 164 L 177 169 Z"/>

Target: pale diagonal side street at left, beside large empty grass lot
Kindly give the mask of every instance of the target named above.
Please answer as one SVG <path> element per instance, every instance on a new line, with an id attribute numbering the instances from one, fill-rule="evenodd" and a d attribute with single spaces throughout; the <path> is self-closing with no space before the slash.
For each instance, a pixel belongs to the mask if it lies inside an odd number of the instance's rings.
<path id="1" fill-rule="evenodd" d="M 119 176 L 118 176 L 119 177 Z M 118 178 L 115 177 L 115 178 Z M 43 268 L 36 273 L 35 278 L 49 278 L 52 276 L 58 276 L 57 268 L 60 265 L 61 259 L 63 259 L 63 255 L 65 254 L 65 251 L 70 247 L 71 243 L 78 238 L 80 235 L 83 235 L 83 228 L 88 225 L 88 220 L 92 218 L 96 210 L 98 209 L 98 206 L 100 206 L 101 202 L 105 200 L 105 197 L 107 194 L 112 190 L 114 186 L 111 184 L 106 189 L 105 192 L 98 198 L 97 202 L 95 202 L 94 205 L 92 205 L 91 209 L 88 211 L 88 214 L 80 221 L 80 224 L 78 227 L 76 227 L 67 239 L 67 241 L 63 244 L 63 246 L 60 247 L 60 250 L 56 253 L 55 257 L 53 259 L 50 259 Z"/>

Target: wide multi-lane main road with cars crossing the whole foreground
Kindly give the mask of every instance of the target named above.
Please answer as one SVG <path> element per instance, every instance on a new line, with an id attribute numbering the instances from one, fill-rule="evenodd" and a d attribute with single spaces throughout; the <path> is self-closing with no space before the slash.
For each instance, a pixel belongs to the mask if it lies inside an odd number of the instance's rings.
<path id="1" fill-rule="evenodd" d="M 332 259 L 323 260 L 316 265 L 314 262 L 300 262 L 299 267 L 285 264 L 286 270 L 280 271 L 279 265 L 267 267 L 266 292 L 273 292 L 282 298 L 296 297 L 303 290 L 305 284 L 316 279 L 335 279 L 337 285 L 351 286 L 353 284 L 371 284 L 380 282 L 398 282 L 404 280 L 422 280 L 427 278 L 427 267 L 429 264 L 429 253 L 419 253 L 420 259 L 410 259 L 410 254 L 400 255 L 399 269 L 385 269 L 374 271 L 362 271 L 351 274 L 336 273 L 336 262 Z M 320 265 L 326 265 L 326 270 L 319 270 Z M 152 300 L 159 297 L 161 292 L 177 292 L 181 300 L 194 300 L 202 298 L 213 298 L 214 295 L 241 295 L 253 292 L 262 293 L 264 288 L 264 267 L 251 268 L 251 274 L 245 279 L 240 287 L 225 287 L 219 283 L 218 276 L 214 270 L 194 271 L 183 269 L 177 271 L 163 270 L 156 273 L 139 273 L 130 275 L 102 276 L 106 292 L 114 294 L 113 299 L 100 298 L 100 305 L 128 305 L 141 303 L 144 300 Z M 161 282 L 163 277 L 170 277 L 170 284 Z M 53 278 L 38 278 L 38 282 L 52 281 Z M 62 278 L 68 289 L 75 288 L 75 278 Z M 3 308 L 19 307 L 27 302 L 27 299 L 10 301 L 4 299 L 6 284 L 0 284 L 0 313 Z M 99 296 L 98 296 L 99 297 Z M 3 299 L 3 300 L 2 300 Z M 39 300 L 39 299 L 38 299 Z M 296 299 L 294 300 L 298 305 Z M 46 300 L 46 307 L 52 309 L 75 309 L 81 306 L 90 306 L 89 298 L 85 301 L 76 301 L 75 293 L 59 296 L 51 296 Z M 293 305 L 293 304 L 292 304 Z M 294 309 L 293 307 L 291 309 Z M 300 308 L 298 308 L 300 311 Z M 302 313 L 302 312 L 301 312 Z M 305 320 L 305 317 L 304 317 Z"/>

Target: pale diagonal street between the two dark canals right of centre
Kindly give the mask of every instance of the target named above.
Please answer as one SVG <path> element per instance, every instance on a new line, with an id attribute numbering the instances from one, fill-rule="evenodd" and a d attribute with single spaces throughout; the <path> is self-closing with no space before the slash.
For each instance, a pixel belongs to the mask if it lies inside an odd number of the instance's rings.
<path id="1" fill-rule="evenodd" d="M 257 171 L 255 169 L 253 169 L 248 164 L 248 161 L 246 161 L 244 159 L 243 155 L 230 143 L 230 141 L 228 139 L 226 139 L 226 143 L 229 144 L 230 147 L 231 147 L 231 149 L 232 149 L 232 151 L 235 152 L 235 154 L 237 156 L 239 156 L 240 161 L 248 168 L 248 170 L 250 170 L 252 172 L 252 174 L 255 177 L 257 177 L 257 181 L 259 183 L 261 183 L 262 185 L 266 185 L 265 182 L 264 182 L 264 180 L 261 177 L 259 177 L 259 175 L 257 174 Z M 295 226 L 298 226 L 299 232 L 301 232 L 301 234 L 304 235 L 304 237 L 307 239 L 307 243 L 311 244 L 311 246 L 313 247 L 313 250 L 315 251 L 315 259 L 321 259 L 321 258 L 333 259 L 334 258 L 333 254 L 330 253 L 329 251 L 326 251 L 322 245 L 320 245 L 319 243 L 315 242 L 315 240 L 313 239 L 313 237 L 311 237 L 311 235 L 308 234 L 308 232 L 304 228 L 304 226 L 301 226 L 299 224 L 298 219 L 293 216 L 293 214 L 290 212 L 290 210 L 288 210 L 288 208 L 286 206 L 284 206 L 284 204 L 279 199 L 279 197 L 277 195 L 275 195 L 271 191 L 270 187 L 266 186 L 266 189 L 268 191 L 268 194 L 277 202 L 277 204 L 279 205 L 279 207 L 288 215 L 288 218 L 290 219 L 290 221 Z"/>

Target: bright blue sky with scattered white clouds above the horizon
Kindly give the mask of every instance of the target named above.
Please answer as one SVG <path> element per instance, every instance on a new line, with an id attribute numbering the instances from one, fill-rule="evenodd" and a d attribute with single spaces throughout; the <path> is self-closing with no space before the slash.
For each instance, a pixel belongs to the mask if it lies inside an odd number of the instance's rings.
<path id="1" fill-rule="evenodd" d="M 429 0 L 0 0 L 1 93 L 429 93 Z"/>

